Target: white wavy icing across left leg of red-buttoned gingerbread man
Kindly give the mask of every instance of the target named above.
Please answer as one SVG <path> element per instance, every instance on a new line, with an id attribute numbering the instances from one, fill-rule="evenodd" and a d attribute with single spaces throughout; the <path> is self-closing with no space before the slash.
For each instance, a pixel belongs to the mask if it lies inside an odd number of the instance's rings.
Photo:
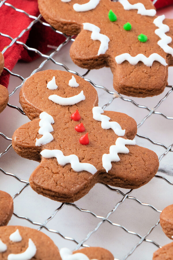
<path id="1" fill-rule="evenodd" d="M 65 166 L 65 164 L 71 164 L 72 169 L 75 172 L 81 172 L 81 171 L 86 171 L 90 172 L 91 174 L 95 174 L 97 172 L 97 169 L 92 165 L 88 163 L 80 163 L 79 158 L 77 155 L 71 154 L 68 156 L 64 156 L 63 152 L 60 150 L 47 150 L 44 149 L 40 153 L 44 158 L 57 158 L 57 162 L 61 166 Z"/>

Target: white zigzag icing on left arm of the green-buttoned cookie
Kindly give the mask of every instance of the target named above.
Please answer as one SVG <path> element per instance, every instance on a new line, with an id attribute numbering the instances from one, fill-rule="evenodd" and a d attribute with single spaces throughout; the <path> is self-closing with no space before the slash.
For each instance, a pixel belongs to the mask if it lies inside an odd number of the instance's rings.
<path id="1" fill-rule="evenodd" d="M 83 23 L 84 30 L 92 31 L 91 39 L 93 41 L 99 40 L 101 42 L 97 55 L 104 54 L 108 49 L 108 42 L 110 39 L 104 34 L 100 34 L 100 28 L 92 23 Z"/>

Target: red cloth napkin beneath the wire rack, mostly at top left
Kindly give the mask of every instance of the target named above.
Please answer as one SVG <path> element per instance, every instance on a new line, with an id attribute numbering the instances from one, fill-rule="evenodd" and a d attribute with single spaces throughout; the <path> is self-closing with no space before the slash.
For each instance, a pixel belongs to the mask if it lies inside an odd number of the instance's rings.
<path id="1" fill-rule="evenodd" d="M 10 3 L 16 8 L 25 10 L 33 16 L 38 16 L 39 14 L 37 0 L 9 0 L 6 3 Z M 161 8 L 170 4 L 173 4 L 173 0 L 157 0 L 155 6 L 156 8 Z M 33 19 L 29 18 L 26 14 L 17 12 L 5 4 L 0 8 L 0 32 L 8 34 L 12 38 L 19 36 L 32 21 Z M 62 35 L 55 33 L 50 27 L 44 26 L 39 22 L 35 23 L 35 25 L 33 25 L 29 31 L 26 31 L 19 39 L 19 41 L 26 43 L 27 46 L 38 49 L 42 53 L 46 53 L 50 50 L 47 47 L 48 44 L 59 46 L 64 40 L 65 38 Z M 0 36 L 0 51 L 10 43 L 10 39 Z M 31 62 L 37 57 L 39 57 L 39 55 L 35 52 L 27 51 L 22 45 L 14 43 L 12 47 L 7 49 L 4 53 L 5 67 L 12 70 L 18 60 Z M 8 82 L 9 73 L 3 70 L 0 77 L 0 84 L 7 87 Z"/>

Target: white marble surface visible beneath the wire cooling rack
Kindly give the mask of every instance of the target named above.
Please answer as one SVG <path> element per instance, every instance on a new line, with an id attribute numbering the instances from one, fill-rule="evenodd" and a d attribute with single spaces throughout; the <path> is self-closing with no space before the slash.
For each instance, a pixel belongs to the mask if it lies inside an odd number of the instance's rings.
<path id="1" fill-rule="evenodd" d="M 158 14 L 166 14 L 167 17 L 173 18 L 173 7 L 165 8 L 158 12 Z M 78 71 L 83 74 L 86 70 L 81 69 L 73 64 L 69 57 L 70 43 L 67 44 L 61 51 L 54 56 L 55 60 L 67 65 L 68 68 Z M 19 62 L 16 64 L 13 72 L 19 73 L 23 77 L 28 77 L 31 72 L 40 65 L 42 58 L 31 62 L 30 64 Z M 46 69 L 62 69 L 61 66 L 54 65 L 52 62 L 47 62 L 42 70 Z M 95 83 L 106 86 L 109 90 L 113 91 L 112 87 L 112 73 L 109 68 L 102 68 L 100 70 L 92 70 L 87 77 L 93 80 Z M 21 81 L 16 77 L 10 77 L 9 92 L 16 87 Z M 168 83 L 173 84 L 173 68 L 169 68 Z M 151 98 L 132 98 L 140 105 L 147 105 L 150 108 L 155 107 L 161 98 L 168 92 L 168 88 L 159 96 Z M 103 106 L 110 99 L 110 94 L 105 93 L 103 90 L 97 89 L 99 94 L 99 105 Z M 17 91 L 9 102 L 13 105 L 19 105 L 18 103 L 19 91 Z M 164 101 L 157 111 L 163 112 L 167 116 L 173 116 L 172 107 L 173 93 L 171 93 L 166 101 Z M 148 114 L 148 111 L 142 108 L 138 108 L 129 102 L 122 101 L 121 99 L 115 99 L 109 110 L 124 112 L 129 116 L 132 116 L 139 124 L 141 120 Z M 17 110 L 7 107 L 0 115 L 0 130 L 5 135 L 12 137 L 13 132 L 17 127 L 28 122 L 29 119 L 26 116 L 20 114 Z M 172 137 L 173 120 L 165 119 L 160 115 L 152 115 L 146 120 L 144 125 L 138 129 L 138 133 L 146 135 L 152 138 L 154 141 L 162 142 L 169 146 L 173 143 Z M 152 149 L 160 156 L 165 152 L 165 149 L 160 146 L 155 146 L 150 142 L 136 138 L 137 144 Z M 2 152 L 9 144 L 10 141 L 4 140 L 0 137 L 0 152 Z M 158 174 L 163 175 L 170 181 L 173 181 L 173 153 L 168 153 L 166 157 L 161 160 L 160 172 Z M 16 174 L 18 177 L 28 180 L 31 172 L 38 165 L 37 162 L 29 161 L 19 157 L 12 148 L 1 157 L 0 167 L 7 172 Z M 16 194 L 23 186 L 22 183 L 14 179 L 13 177 L 4 175 L 1 173 L 0 189 L 9 192 L 12 196 Z M 128 190 L 120 189 L 123 192 Z M 152 204 L 157 209 L 162 210 L 167 205 L 173 203 L 173 186 L 169 185 L 163 180 L 153 178 L 145 186 L 133 190 L 131 196 L 134 196 L 142 202 Z M 101 184 L 96 184 L 95 187 L 84 198 L 76 202 L 76 205 L 82 209 L 88 209 L 93 211 L 98 216 L 106 216 L 111 211 L 116 203 L 122 199 L 122 196 L 116 192 L 110 192 L 106 187 Z M 14 200 L 14 212 L 22 216 L 27 216 L 35 222 L 43 223 L 52 212 L 57 209 L 61 203 L 52 201 L 41 195 L 35 193 L 30 187 L 27 187 L 17 198 Z M 126 199 L 125 202 L 120 205 L 116 211 L 109 218 L 112 222 L 125 226 L 130 231 L 139 233 L 144 236 L 151 226 L 153 226 L 159 219 L 159 213 L 153 211 L 151 208 L 141 206 L 133 200 Z M 56 216 L 48 222 L 47 226 L 50 229 L 55 229 L 68 237 L 74 237 L 77 241 L 81 241 L 86 235 L 92 231 L 99 219 L 91 216 L 89 213 L 83 213 L 78 211 L 72 206 L 64 206 L 61 211 L 57 212 Z M 10 225 L 24 225 L 32 228 L 37 226 L 29 223 L 27 220 L 21 220 L 12 217 Z M 65 240 L 57 234 L 50 233 L 45 229 L 43 232 L 48 234 L 57 244 L 59 248 L 69 247 L 75 249 L 76 244 L 69 240 Z M 153 232 L 147 237 L 163 246 L 168 244 L 168 239 L 161 230 L 161 226 L 157 226 Z M 114 257 L 117 259 L 123 259 L 123 257 L 133 248 L 133 246 L 140 241 L 140 238 L 126 233 L 123 229 L 112 226 L 108 222 L 102 224 L 97 232 L 93 233 L 88 239 L 86 244 L 90 246 L 102 246 L 110 250 Z M 153 252 L 157 250 L 157 247 L 149 242 L 143 242 L 135 252 L 128 259 L 152 259 Z"/>

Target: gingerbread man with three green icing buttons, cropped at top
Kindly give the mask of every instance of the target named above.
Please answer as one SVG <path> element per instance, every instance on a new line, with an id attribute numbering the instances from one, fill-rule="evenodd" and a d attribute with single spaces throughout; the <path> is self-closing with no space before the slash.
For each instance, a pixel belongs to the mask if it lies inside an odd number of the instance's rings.
<path id="1" fill-rule="evenodd" d="M 140 2 L 140 3 L 139 3 Z M 109 66 L 116 91 L 127 96 L 163 92 L 173 65 L 173 19 L 155 16 L 151 0 L 38 0 L 55 29 L 78 34 L 70 49 L 75 64 Z"/>

